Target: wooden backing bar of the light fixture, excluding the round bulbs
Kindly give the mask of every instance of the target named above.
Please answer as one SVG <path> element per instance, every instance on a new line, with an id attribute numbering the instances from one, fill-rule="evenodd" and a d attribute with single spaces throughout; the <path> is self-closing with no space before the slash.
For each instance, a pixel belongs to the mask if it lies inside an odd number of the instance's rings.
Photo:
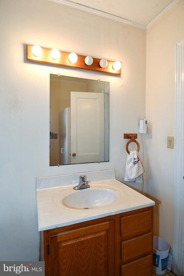
<path id="1" fill-rule="evenodd" d="M 61 54 L 60 58 L 55 60 L 51 57 L 51 49 L 47 49 L 47 48 L 43 48 L 43 47 L 41 47 L 41 49 L 42 49 L 41 56 L 34 56 L 32 53 L 32 45 L 27 45 L 27 60 L 34 61 L 34 62 L 53 64 L 53 65 L 58 65 L 58 66 L 66 66 L 66 67 L 72 67 L 72 68 L 78 68 L 78 69 L 97 71 L 97 72 L 108 73 L 108 74 L 113 74 L 113 75 L 121 75 L 121 69 L 119 69 L 119 70 L 113 69 L 112 66 L 114 64 L 114 61 L 108 60 L 108 65 L 105 68 L 102 68 L 99 65 L 100 59 L 93 58 L 93 64 L 86 65 L 85 64 L 86 56 L 81 56 L 81 55 L 77 54 L 78 60 L 75 63 L 71 63 L 68 60 L 68 56 L 70 53 L 60 51 L 60 54 Z"/>

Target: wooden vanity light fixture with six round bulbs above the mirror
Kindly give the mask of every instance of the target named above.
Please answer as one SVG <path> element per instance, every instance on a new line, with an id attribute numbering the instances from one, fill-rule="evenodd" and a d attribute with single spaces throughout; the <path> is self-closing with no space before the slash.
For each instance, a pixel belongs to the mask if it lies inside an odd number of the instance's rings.
<path id="1" fill-rule="evenodd" d="M 34 52 L 34 48 L 39 49 L 39 53 Z M 57 55 L 54 54 L 51 56 L 52 51 L 55 52 Z M 69 56 L 74 56 L 75 60 L 69 60 Z M 113 64 L 115 63 L 114 61 L 94 58 L 91 56 L 82 56 L 75 53 L 63 52 L 55 48 L 48 49 L 40 46 L 33 47 L 32 45 L 27 45 L 27 60 L 33 62 L 41 62 L 45 64 L 53 64 L 57 66 L 65 66 L 101 73 L 108 73 L 112 75 L 121 75 L 121 69 L 116 70 L 115 68 L 113 68 Z"/>

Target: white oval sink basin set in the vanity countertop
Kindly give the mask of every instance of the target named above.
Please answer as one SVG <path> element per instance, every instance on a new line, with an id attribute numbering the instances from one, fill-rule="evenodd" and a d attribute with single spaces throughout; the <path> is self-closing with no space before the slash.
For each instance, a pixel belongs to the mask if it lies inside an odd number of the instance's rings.
<path id="1" fill-rule="evenodd" d="M 83 189 L 67 195 L 63 205 L 75 209 L 100 208 L 116 200 L 116 194 L 108 189 Z"/>

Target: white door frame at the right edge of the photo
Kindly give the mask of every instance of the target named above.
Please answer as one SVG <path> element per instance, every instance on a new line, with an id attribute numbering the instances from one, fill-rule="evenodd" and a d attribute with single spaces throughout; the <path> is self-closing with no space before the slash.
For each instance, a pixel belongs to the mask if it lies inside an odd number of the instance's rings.
<path id="1" fill-rule="evenodd" d="M 184 275 L 184 39 L 175 48 L 175 222 L 172 270 L 178 276 Z"/>

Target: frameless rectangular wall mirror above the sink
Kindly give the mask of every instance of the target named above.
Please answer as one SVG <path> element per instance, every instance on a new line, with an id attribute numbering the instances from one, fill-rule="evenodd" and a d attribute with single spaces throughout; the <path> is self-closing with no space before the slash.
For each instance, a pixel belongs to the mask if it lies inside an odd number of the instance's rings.
<path id="1" fill-rule="evenodd" d="M 50 166 L 109 161 L 109 82 L 50 74 Z"/>

